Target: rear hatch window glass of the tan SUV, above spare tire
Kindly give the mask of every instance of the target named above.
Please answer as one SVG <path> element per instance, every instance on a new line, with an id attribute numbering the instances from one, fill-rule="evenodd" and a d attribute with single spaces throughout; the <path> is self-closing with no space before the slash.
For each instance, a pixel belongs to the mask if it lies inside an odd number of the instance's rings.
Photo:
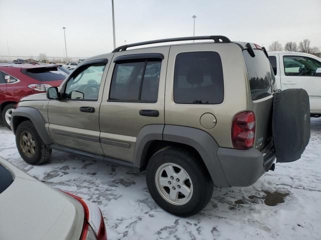
<path id="1" fill-rule="evenodd" d="M 250 81 L 252 100 L 257 100 L 272 94 L 275 76 L 269 59 L 263 50 L 254 49 L 255 56 L 250 56 L 243 50 L 243 56 Z"/>

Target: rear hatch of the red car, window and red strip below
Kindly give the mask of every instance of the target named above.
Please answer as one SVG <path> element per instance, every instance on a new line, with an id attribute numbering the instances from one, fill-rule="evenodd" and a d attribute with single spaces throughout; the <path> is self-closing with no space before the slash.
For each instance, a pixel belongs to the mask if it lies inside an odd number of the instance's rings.
<path id="1" fill-rule="evenodd" d="M 33 67 L 22 69 L 27 76 L 41 81 L 51 86 L 59 86 L 68 74 L 58 68 L 58 66 Z"/>

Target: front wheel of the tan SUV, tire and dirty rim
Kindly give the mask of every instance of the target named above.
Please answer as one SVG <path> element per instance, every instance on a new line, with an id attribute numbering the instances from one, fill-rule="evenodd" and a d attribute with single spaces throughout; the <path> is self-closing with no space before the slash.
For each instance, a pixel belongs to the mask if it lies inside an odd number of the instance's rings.
<path id="1" fill-rule="evenodd" d="M 18 125 L 16 144 L 21 157 L 29 164 L 38 165 L 50 159 L 52 149 L 45 145 L 31 121 Z"/>

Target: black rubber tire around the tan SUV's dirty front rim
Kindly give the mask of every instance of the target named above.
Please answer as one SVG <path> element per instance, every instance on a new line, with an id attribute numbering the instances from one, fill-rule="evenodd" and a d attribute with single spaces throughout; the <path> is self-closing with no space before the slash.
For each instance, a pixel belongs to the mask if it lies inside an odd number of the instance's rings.
<path id="1" fill-rule="evenodd" d="M 35 143 L 35 152 L 32 156 L 28 156 L 28 153 L 24 152 L 20 144 L 23 134 L 26 132 L 31 133 Z M 52 149 L 45 145 L 31 121 L 23 121 L 18 125 L 16 130 L 16 145 L 21 157 L 29 164 L 38 165 L 48 161 L 51 157 Z"/>

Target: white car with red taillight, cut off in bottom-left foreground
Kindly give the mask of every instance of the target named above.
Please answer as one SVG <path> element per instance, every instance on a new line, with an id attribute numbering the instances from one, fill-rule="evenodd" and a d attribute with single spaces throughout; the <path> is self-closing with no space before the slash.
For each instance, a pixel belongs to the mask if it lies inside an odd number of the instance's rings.
<path id="1" fill-rule="evenodd" d="M 51 188 L 1 157 L 0 222 L 2 240 L 107 239 L 96 204 Z"/>

